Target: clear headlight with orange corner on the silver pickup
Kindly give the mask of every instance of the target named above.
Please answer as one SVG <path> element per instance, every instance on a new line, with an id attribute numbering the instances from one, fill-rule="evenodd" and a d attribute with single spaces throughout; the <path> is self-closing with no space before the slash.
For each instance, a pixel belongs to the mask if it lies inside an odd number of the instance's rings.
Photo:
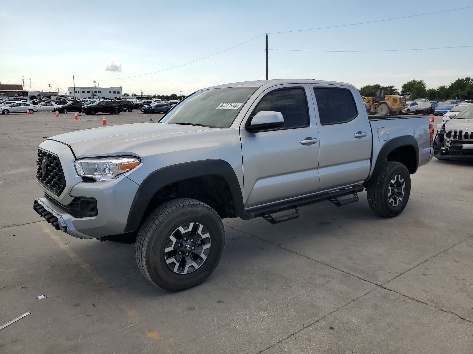
<path id="1" fill-rule="evenodd" d="M 137 157 L 92 157 L 74 162 L 77 174 L 81 177 L 92 177 L 96 181 L 109 181 L 131 171 L 141 163 Z"/>

